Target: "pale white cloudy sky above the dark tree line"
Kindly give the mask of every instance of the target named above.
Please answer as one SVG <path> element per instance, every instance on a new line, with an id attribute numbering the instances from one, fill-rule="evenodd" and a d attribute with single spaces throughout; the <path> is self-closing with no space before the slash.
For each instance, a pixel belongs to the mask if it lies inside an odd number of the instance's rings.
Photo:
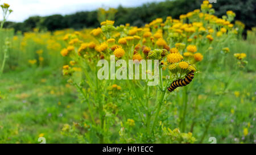
<path id="1" fill-rule="evenodd" d="M 0 4 L 8 3 L 10 9 L 14 10 L 8 20 L 23 22 L 29 16 L 72 14 L 77 11 L 96 10 L 98 7 L 124 7 L 141 6 L 147 2 L 160 2 L 164 0 L 0 0 Z M 0 14 L 2 20 L 2 10 Z"/>

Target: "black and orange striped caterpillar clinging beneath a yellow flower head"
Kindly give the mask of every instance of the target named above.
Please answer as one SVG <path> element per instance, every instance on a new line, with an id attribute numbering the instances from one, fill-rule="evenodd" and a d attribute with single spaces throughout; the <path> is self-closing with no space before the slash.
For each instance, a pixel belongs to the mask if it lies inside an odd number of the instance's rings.
<path id="1" fill-rule="evenodd" d="M 174 91 L 177 87 L 188 85 L 194 78 L 194 72 L 189 72 L 184 79 L 177 79 L 171 83 L 170 87 L 167 87 L 168 91 Z"/>

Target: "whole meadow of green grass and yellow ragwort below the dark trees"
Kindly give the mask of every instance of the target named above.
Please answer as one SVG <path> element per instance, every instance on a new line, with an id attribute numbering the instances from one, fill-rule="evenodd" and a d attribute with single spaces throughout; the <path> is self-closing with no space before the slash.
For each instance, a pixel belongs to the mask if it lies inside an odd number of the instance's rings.
<path id="1" fill-rule="evenodd" d="M 1 28 L 0 143 L 256 143 L 256 29 L 243 39 L 245 25 L 226 13 L 204 1 L 141 28 Z M 158 85 L 98 79 L 110 55 L 158 60 Z"/>

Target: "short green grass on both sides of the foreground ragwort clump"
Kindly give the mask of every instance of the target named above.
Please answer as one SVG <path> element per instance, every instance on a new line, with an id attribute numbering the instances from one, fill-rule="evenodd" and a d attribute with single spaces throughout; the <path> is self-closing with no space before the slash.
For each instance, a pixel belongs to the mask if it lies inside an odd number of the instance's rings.
<path id="1" fill-rule="evenodd" d="M 230 50 L 245 52 L 248 55 L 248 66 L 238 74 L 221 98 L 218 112 L 203 143 L 210 143 L 209 137 L 216 137 L 217 143 L 255 143 L 256 45 L 237 41 Z M 189 105 L 186 131 L 191 130 L 193 124 L 192 132 L 195 133 L 197 143 L 209 121 L 212 106 L 216 104 L 217 90 L 224 85 L 231 72 L 225 70 L 210 74 L 201 83 L 204 89 L 200 90 L 200 95 L 189 98 L 197 99 L 199 110 L 191 114 L 189 111 L 195 105 Z M 77 97 L 75 87 L 67 84 L 60 69 L 47 67 L 10 70 L 2 75 L 0 83 L 0 143 L 39 143 L 37 140 L 41 133 L 47 143 L 84 143 L 77 137 L 61 134 L 64 124 L 82 124 L 88 118 L 88 113 L 86 104 Z M 193 89 L 193 85 L 189 87 L 192 96 Z M 209 96 L 210 91 L 215 91 L 216 95 Z M 171 112 L 168 122 L 175 127 L 179 115 L 177 108 L 181 108 L 181 105 L 168 102 L 164 107 Z M 249 136 L 244 136 L 245 128 Z"/>

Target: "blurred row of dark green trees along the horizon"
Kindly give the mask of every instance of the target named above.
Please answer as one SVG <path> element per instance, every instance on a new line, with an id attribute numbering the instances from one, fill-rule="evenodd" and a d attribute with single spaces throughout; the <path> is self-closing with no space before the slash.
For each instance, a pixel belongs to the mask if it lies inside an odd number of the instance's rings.
<path id="1" fill-rule="evenodd" d="M 130 23 L 131 26 L 141 27 L 156 18 L 165 19 L 167 16 L 179 18 L 179 15 L 186 14 L 200 8 L 199 0 L 174 0 L 164 2 L 146 3 L 139 7 L 122 7 L 109 10 L 99 9 L 94 11 L 76 12 L 71 15 L 50 15 L 31 16 L 22 23 L 6 22 L 5 28 L 14 28 L 16 31 L 32 31 L 34 28 L 42 30 L 61 30 L 74 28 L 80 30 L 88 27 L 98 27 L 105 19 L 115 20 L 115 25 Z M 256 26 L 256 1 L 255 0 L 217 0 L 212 3 L 216 15 L 221 17 L 226 11 L 233 10 L 236 13 L 236 20 L 245 23 L 245 30 Z M 104 14 L 102 14 L 102 11 Z M 101 15 L 99 15 L 101 12 Z M 99 22 L 100 21 L 100 22 Z"/>

